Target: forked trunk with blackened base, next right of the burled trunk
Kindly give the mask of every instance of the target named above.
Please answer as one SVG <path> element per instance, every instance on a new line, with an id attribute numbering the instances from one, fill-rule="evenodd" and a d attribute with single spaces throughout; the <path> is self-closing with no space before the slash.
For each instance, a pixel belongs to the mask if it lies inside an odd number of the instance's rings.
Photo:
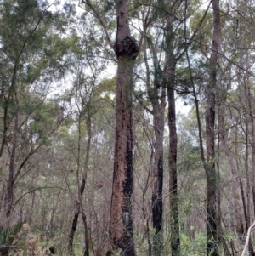
<path id="1" fill-rule="evenodd" d="M 144 23 L 144 34 L 146 31 L 146 24 Z M 152 166 L 152 226 L 155 230 L 153 237 L 153 254 L 155 256 L 161 255 L 162 250 L 162 217 L 163 217 L 163 140 L 165 129 L 165 109 L 166 109 L 166 86 L 161 80 L 161 71 L 159 69 L 159 63 L 156 57 L 156 51 L 152 42 L 149 41 L 150 51 L 153 53 L 154 63 L 154 82 L 153 88 L 150 87 L 150 65 L 147 57 L 147 38 L 144 37 L 144 63 L 146 67 L 146 82 L 149 92 L 150 101 L 152 103 L 153 126 L 155 134 L 154 154 L 153 154 L 153 166 Z M 148 226 L 149 231 L 149 226 Z M 150 236 L 150 233 L 148 233 Z M 149 242 L 149 241 L 148 241 Z M 150 243 L 149 243 L 150 244 Z M 150 250 L 151 251 L 151 250 Z"/>

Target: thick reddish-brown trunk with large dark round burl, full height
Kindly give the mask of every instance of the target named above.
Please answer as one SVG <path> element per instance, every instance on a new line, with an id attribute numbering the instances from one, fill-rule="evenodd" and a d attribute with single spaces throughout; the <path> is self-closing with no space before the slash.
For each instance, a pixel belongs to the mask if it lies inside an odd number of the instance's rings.
<path id="1" fill-rule="evenodd" d="M 131 202 L 133 193 L 132 95 L 133 64 L 139 54 L 139 46 L 130 34 L 127 3 L 127 0 L 116 1 L 116 142 L 109 231 L 114 249 L 121 249 L 124 256 L 133 256 L 135 252 Z"/>

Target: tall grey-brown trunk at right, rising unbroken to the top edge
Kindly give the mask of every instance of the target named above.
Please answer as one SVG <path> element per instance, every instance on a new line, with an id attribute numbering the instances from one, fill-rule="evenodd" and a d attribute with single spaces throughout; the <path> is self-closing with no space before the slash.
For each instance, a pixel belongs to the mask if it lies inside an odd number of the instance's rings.
<path id="1" fill-rule="evenodd" d="M 217 171 L 215 168 L 215 91 L 218 50 L 220 43 L 220 9 L 219 0 L 212 0 L 213 35 L 212 54 L 208 70 L 207 86 L 206 137 L 207 137 L 207 255 L 217 256 L 218 253 L 218 221 L 217 221 Z"/>

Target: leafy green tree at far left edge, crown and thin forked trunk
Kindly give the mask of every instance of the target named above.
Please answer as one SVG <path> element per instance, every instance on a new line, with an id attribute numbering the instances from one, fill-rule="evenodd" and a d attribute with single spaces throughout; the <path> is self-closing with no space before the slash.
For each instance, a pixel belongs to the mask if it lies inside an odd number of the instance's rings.
<path id="1" fill-rule="evenodd" d="M 14 186 L 24 175 L 26 163 L 48 144 L 61 122 L 49 115 L 59 116 L 59 103 L 47 103 L 46 97 L 54 79 L 65 73 L 63 56 L 69 44 L 56 33 L 65 28 L 65 22 L 48 8 L 48 3 L 30 0 L 3 1 L 0 9 L 0 156 L 2 164 L 8 162 L 3 204 L 7 218 L 15 205 Z"/>

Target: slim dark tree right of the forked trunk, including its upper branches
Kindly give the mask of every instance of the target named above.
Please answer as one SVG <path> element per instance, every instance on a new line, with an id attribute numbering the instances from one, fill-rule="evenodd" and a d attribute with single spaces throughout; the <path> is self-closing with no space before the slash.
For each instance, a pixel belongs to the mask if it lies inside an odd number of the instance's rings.
<path id="1" fill-rule="evenodd" d="M 162 15 L 164 39 L 162 47 L 165 53 L 163 65 L 163 84 L 167 89 L 168 113 L 167 124 L 169 130 L 169 199 L 170 199 L 170 225 L 171 225 L 171 253 L 180 254 L 179 234 L 179 202 L 178 202 L 178 139 L 176 126 L 176 94 L 177 94 L 177 65 L 183 61 L 183 57 L 189 44 L 184 33 L 183 20 L 194 13 L 197 3 L 186 1 L 168 4 L 166 1 L 158 1 L 159 11 Z M 195 34 L 195 33 L 194 33 Z M 191 38 L 194 35 L 191 36 Z M 180 84 L 183 91 L 184 85 Z"/>

